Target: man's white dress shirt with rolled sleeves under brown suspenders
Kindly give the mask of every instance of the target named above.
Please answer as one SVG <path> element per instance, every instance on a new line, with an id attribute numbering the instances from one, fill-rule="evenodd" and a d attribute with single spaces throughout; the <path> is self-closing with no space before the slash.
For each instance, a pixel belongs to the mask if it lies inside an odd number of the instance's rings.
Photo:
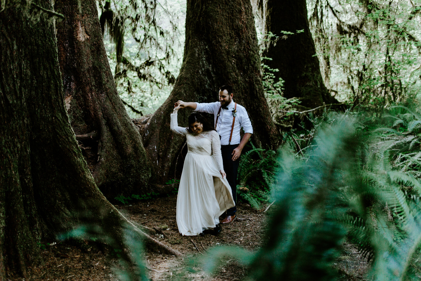
<path id="1" fill-rule="evenodd" d="M 218 115 L 220 102 L 215 103 L 196 103 L 197 107 L 195 111 L 213 113 L 215 116 L 213 119 L 213 126 L 216 122 L 216 116 Z M 229 136 L 231 135 L 232 111 L 234 110 L 234 100 L 227 106 L 228 109 L 221 108 L 219 113 L 218 124 L 216 124 L 216 131 L 221 136 L 221 145 L 229 144 Z M 240 143 L 240 130 L 243 128 L 244 132 L 253 134 L 253 127 L 251 127 L 250 119 L 248 118 L 247 111 L 245 108 L 237 103 L 237 116 L 235 116 L 234 130 L 232 130 L 231 144 Z"/>

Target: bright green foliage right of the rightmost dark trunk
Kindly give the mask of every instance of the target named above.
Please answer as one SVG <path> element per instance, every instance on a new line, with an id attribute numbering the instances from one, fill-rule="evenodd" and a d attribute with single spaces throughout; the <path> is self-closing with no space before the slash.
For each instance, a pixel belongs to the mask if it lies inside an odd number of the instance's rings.
<path id="1" fill-rule="evenodd" d="M 338 99 L 384 106 L 420 89 L 420 1 L 309 0 L 325 84 Z"/>

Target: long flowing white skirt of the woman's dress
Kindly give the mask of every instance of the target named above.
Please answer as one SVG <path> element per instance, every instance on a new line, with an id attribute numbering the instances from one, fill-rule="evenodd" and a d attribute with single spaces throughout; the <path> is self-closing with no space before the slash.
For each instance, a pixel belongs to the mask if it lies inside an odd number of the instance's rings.
<path id="1" fill-rule="evenodd" d="M 198 235 L 215 227 L 219 216 L 235 203 L 211 155 L 188 152 L 177 197 L 177 226 L 182 235 Z"/>

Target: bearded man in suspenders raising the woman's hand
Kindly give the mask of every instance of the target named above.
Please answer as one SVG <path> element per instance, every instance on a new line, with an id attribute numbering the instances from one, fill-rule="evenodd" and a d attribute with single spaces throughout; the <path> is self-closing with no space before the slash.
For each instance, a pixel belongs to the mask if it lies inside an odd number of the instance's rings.
<path id="1" fill-rule="evenodd" d="M 221 224 L 231 224 L 237 219 L 237 173 L 241 151 L 253 134 L 250 119 L 244 107 L 232 100 L 232 86 L 224 85 L 219 89 L 219 101 L 215 103 L 186 103 L 179 100 L 176 106 L 194 111 L 213 113 L 215 129 L 221 138 L 222 162 L 226 180 L 231 186 L 235 206 L 226 210 Z M 245 134 L 240 141 L 240 129 Z"/>

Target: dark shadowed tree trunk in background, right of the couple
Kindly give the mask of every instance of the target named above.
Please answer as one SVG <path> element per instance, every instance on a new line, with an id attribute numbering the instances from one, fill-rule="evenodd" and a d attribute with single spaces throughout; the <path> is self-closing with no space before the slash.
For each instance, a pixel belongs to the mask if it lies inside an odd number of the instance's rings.
<path id="1" fill-rule="evenodd" d="M 265 33 L 280 36 L 276 43 L 269 43 L 264 56 L 272 60 L 264 63 L 277 68 L 276 80 L 285 80 L 284 97 L 298 97 L 301 105 L 316 107 L 323 103 L 337 103 L 323 83 L 319 59 L 307 19 L 306 0 L 260 0 L 260 8 L 266 9 Z M 262 3 L 263 2 L 263 3 Z M 264 7 L 266 4 L 266 7 Z M 297 30 L 304 32 L 298 33 Z M 293 32 L 285 35 L 282 31 Z"/>

